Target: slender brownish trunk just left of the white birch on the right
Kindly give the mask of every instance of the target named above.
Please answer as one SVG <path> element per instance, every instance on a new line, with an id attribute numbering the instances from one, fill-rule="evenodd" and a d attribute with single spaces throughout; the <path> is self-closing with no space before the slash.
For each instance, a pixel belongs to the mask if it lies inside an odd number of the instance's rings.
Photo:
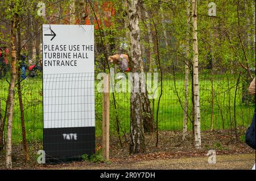
<path id="1" fill-rule="evenodd" d="M 190 6 L 191 2 L 188 0 L 187 5 L 187 44 L 186 44 L 186 59 L 185 59 L 185 97 L 184 97 L 184 119 L 183 119 L 183 133 L 182 133 L 182 140 L 186 139 L 187 136 L 187 122 L 188 122 L 188 75 L 189 75 L 189 29 L 190 29 Z"/>

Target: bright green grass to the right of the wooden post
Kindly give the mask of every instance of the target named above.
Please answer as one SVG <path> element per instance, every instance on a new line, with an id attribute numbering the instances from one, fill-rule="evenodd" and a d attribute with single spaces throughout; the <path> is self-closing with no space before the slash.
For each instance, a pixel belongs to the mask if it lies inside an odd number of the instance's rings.
<path id="1" fill-rule="evenodd" d="M 213 81 L 213 128 L 226 129 L 234 127 L 234 95 L 236 90 L 236 77 L 229 75 L 229 83 L 225 75 L 214 77 Z M 178 92 L 181 104 L 184 104 L 184 78 L 176 76 L 176 90 Z M 212 84 L 210 77 L 201 75 L 200 79 L 200 108 L 201 108 L 201 129 L 208 130 L 211 127 L 212 115 Z M 160 99 L 159 106 L 159 128 L 161 130 L 181 130 L 183 127 L 183 109 L 180 106 L 180 101 L 177 98 L 177 93 L 174 85 L 174 77 L 167 76 L 163 79 L 163 95 Z M 191 87 L 189 87 L 191 94 Z M 159 89 L 160 95 L 160 89 Z M 129 116 L 130 116 L 130 94 L 117 93 L 115 99 L 118 105 L 118 116 L 121 122 L 122 129 L 129 132 Z M 191 95 L 189 95 L 189 111 L 191 112 Z M 151 100 L 152 103 L 152 100 Z M 154 117 L 156 119 L 158 99 L 155 100 Z M 112 108 L 113 109 L 113 108 Z M 236 96 L 236 120 L 238 127 L 247 127 L 252 118 L 253 106 L 242 103 L 242 83 L 239 84 Z M 110 115 L 114 120 L 114 114 Z M 114 123 L 112 125 L 115 125 Z M 189 121 L 188 129 L 192 128 Z"/>

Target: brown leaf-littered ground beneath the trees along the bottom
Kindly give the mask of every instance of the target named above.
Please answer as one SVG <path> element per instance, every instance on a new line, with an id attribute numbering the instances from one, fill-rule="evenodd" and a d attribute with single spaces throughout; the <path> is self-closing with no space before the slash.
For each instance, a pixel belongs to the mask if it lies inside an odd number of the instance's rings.
<path id="1" fill-rule="evenodd" d="M 171 167 L 164 160 L 169 160 L 171 162 L 168 163 L 183 163 L 185 164 L 186 160 L 193 158 L 204 158 L 204 162 L 207 163 L 207 153 L 210 149 L 216 150 L 217 157 L 225 158 L 227 161 L 229 160 L 228 155 L 230 155 L 230 159 L 232 156 L 232 160 L 239 163 L 243 163 L 247 167 L 249 167 L 253 162 L 255 162 L 255 150 L 251 149 L 249 146 L 242 141 L 242 135 L 244 135 L 245 129 L 238 129 L 238 141 L 236 141 L 236 136 L 234 131 L 224 130 L 224 131 L 202 131 L 201 132 L 201 149 L 193 148 L 191 132 L 188 132 L 188 137 L 186 141 L 182 141 L 182 133 L 180 131 L 161 131 L 159 132 L 159 144 L 158 147 L 156 144 L 156 135 L 146 134 L 146 153 L 130 155 L 129 154 L 129 144 L 125 142 L 125 137 L 123 140 L 123 147 L 121 147 L 118 137 L 112 136 L 110 137 L 110 161 L 106 166 L 107 169 L 136 169 L 137 167 L 133 167 L 134 164 L 139 163 L 138 168 L 148 169 L 148 166 L 152 165 L 150 168 L 154 169 L 154 164 L 148 164 L 150 162 L 156 162 L 155 165 L 161 164 L 158 169 L 175 169 L 175 167 Z M 129 139 L 129 136 L 126 136 L 126 139 Z M 100 149 L 101 139 L 97 138 L 97 149 Z M 31 161 L 29 163 L 24 163 L 23 154 L 22 154 L 22 144 L 13 146 L 13 168 L 14 169 L 76 169 L 76 168 L 86 168 L 86 169 L 106 169 L 106 163 L 90 163 L 90 162 L 73 162 L 73 163 L 65 163 L 61 165 L 39 165 L 36 163 L 37 151 L 42 148 L 40 142 L 33 142 L 32 144 L 28 144 L 30 149 L 30 157 Z M 244 154 L 249 155 L 245 158 L 241 157 L 239 159 L 237 155 Z M 222 155 L 222 156 L 221 156 Z M 227 157 L 227 158 L 226 158 Z M 254 159 L 253 159 L 254 158 Z M 249 159 L 248 162 L 246 159 Z M 195 159 L 197 163 L 194 165 L 196 167 L 189 167 L 191 165 L 189 162 L 182 166 L 182 164 L 176 164 L 176 169 L 200 169 L 203 166 L 200 162 L 200 159 Z M 162 164 L 163 162 L 163 164 Z M 207 163 L 208 164 L 208 163 Z M 225 169 L 234 169 L 232 168 L 232 164 L 226 163 Z M 122 165 L 122 167 L 121 167 Z M 145 165 L 145 167 L 143 167 Z M 164 165 L 168 165 L 166 168 Z M 174 165 L 174 164 L 172 164 Z M 209 165 L 209 164 L 208 164 Z M 230 167 L 229 167 L 230 165 Z M 236 164 L 233 164 L 233 166 Z M 192 164 L 193 166 L 193 164 Z M 209 167 L 212 169 L 222 168 L 221 166 Z M 242 167 L 246 169 L 247 167 Z M 149 168 L 149 169 L 150 169 Z M 204 168 L 204 167 L 203 167 Z M 205 168 L 208 168 L 207 166 Z M 241 169 L 242 169 L 241 168 Z M 5 169 L 5 153 L 3 151 L 0 152 L 0 169 Z M 223 168 L 222 168 L 223 169 Z"/>

